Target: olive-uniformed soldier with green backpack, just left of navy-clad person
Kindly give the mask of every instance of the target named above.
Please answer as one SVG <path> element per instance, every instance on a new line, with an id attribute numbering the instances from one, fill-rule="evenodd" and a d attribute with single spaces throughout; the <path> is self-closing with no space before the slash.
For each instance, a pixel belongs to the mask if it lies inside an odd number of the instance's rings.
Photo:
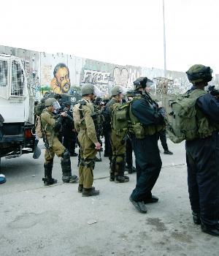
<path id="1" fill-rule="evenodd" d="M 110 119 L 112 118 L 112 110 L 115 104 L 122 104 L 122 90 L 120 86 L 115 86 L 111 91 L 112 99 L 107 103 L 107 111 Z M 110 159 L 110 181 L 116 183 L 128 182 L 128 176 L 124 175 L 126 165 L 126 141 L 123 137 L 116 135 L 115 130 L 111 129 L 110 143 L 112 146 L 112 159 Z"/>

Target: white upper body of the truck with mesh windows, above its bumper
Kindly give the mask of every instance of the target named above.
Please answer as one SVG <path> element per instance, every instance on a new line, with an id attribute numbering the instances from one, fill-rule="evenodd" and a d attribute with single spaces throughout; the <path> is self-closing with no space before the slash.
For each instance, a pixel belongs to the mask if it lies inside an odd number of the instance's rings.
<path id="1" fill-rule="evenodd" d="M 0 54 L 0 113 L 4 123 L 34 124 L 34 104 L 30 108 L 29 96 L 23 62 L 15 56 Z"/>

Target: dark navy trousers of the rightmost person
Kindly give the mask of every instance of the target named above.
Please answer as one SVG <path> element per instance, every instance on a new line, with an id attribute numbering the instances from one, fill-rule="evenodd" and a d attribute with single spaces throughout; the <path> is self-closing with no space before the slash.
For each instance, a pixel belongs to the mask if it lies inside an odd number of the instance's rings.
<path id="1" fill-rule="evenodd" d="M 209 227 L 219 221 L 219 135 L 186 141 L 188 193 L 192 211 Z"/>

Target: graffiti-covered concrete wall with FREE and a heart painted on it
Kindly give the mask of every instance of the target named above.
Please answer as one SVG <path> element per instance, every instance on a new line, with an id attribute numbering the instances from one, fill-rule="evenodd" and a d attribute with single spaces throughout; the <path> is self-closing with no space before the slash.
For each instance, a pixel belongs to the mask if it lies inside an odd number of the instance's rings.
<path id="1" fill-rule="evenodd" d="M 134 80 L 139 76 L 147 76 L 155 82 L 155 97 L 161 99 L 165 107 L 169 104 L 169 97 L 172 94 L 183 93 L 191 87 L 185 72 L 168 70 L 167 78 L 164 78 L 162 69 L 120 66 L 63 53 L 39 53 L 1 45 L 0 53 L 18 56 L 25 61 L 28 82 L 34 89 L 36 99 L 40 99 L 43 91 L 51 89 L 53 70 L 59 63 L 64 63 L 69 68 L 69 83 L 72 87 L 93 83 L 104 92 L 104 95 L 109 94 L 115 85 L 131 89 Z"/>

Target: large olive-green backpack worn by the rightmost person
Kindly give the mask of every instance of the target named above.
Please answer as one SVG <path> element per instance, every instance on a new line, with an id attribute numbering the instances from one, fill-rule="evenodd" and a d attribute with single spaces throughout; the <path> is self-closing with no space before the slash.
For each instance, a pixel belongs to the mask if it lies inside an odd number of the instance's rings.
<path id="1" fill-rule="evenodd" d="M 196 118 L 196 100 L 206 94 L 204 90 L 195 89 L 173 99 L 172 112 L 166 116 L 166 131 L 173 143 L 199 138 Z"/>

